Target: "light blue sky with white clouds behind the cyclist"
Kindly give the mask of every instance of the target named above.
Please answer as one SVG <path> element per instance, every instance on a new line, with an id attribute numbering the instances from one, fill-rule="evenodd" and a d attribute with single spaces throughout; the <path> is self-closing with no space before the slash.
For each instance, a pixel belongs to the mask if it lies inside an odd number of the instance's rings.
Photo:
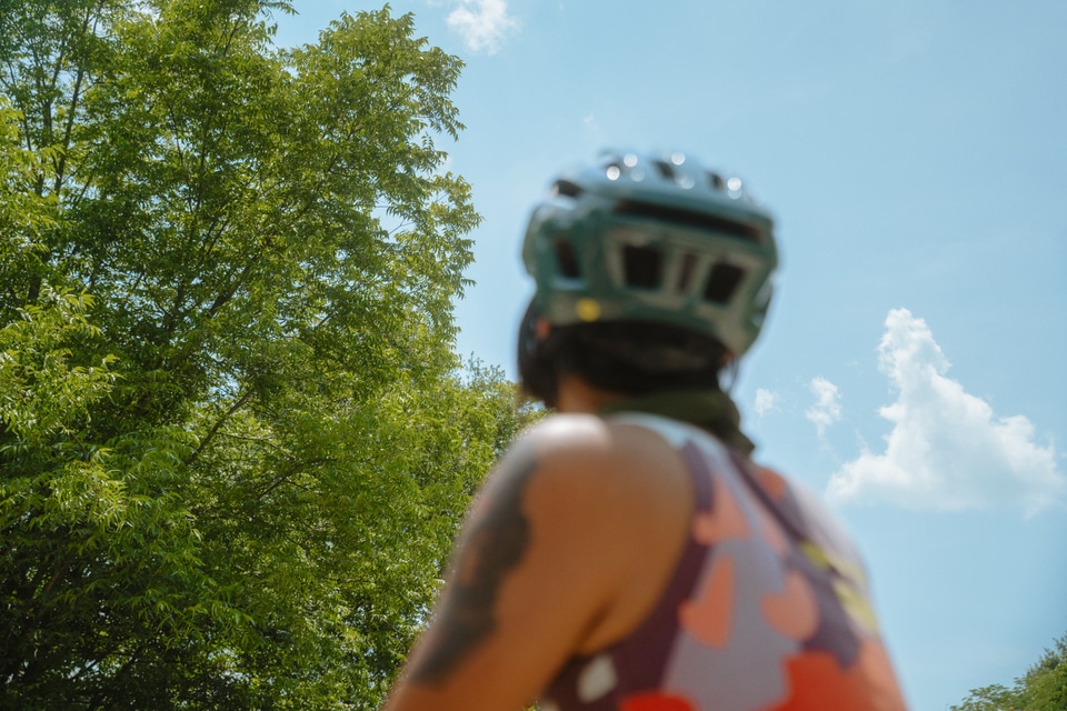
<path id="1" fill-rule="evenodd" d="M 297 2 L 279 43 L 352 0 Z M 513 377 L 519 239 L 564 167 L 677 149 L 777 217 L 734 393 L 864 549 L 920 711 L 1067 632 L 1067 2 L 402 0 L 467 62 L 445 143 L 485 218 L 459 352 Z"/>

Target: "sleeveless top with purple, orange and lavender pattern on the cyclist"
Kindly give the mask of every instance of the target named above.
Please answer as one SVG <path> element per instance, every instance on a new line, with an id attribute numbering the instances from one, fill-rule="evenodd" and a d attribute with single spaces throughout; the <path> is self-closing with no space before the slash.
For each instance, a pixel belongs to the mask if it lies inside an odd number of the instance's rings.
<path id="1" fill-rule="evenodd" d="M 696 493 L 689 540 L 646 620 L 571 659 L 541 711 L 900 711 L 862 564 L 810 495 L 704 430 L 648 414 Z"/>

